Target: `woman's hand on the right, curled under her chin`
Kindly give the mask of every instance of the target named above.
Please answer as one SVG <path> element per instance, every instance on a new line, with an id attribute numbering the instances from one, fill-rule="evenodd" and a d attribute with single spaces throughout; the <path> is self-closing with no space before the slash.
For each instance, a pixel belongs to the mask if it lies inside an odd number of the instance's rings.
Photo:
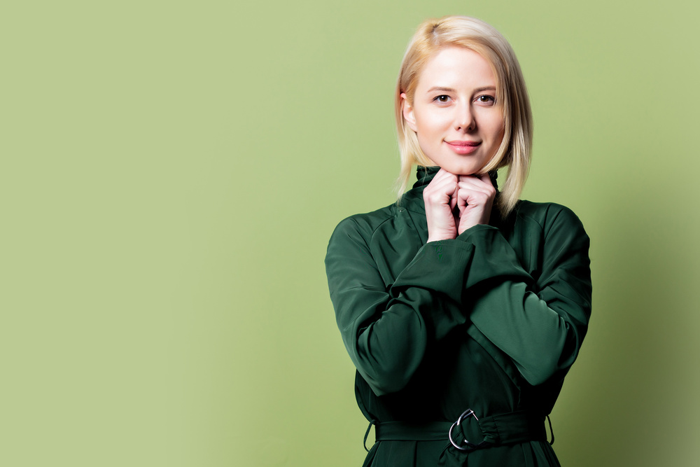
<path id="1" fill-rule="evenodd" d="M 477 224 L 488 224 L 491 207 L 496 197 L 496 188 L 489 174 L 460 175 L 457 190 L 457 207 L 459 208 L 459 225 L 457 234 Z"/>

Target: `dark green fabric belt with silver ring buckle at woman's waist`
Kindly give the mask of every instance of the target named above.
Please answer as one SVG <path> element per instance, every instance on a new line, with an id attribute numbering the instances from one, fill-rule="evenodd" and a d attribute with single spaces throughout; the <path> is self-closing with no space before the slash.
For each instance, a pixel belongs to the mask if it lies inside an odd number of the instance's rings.
<path id="1" fill-rule="evenodd" d="M 549 416 L 547 415 L 547 421 Z M 472 451 L 498 445 L 527 441 L 547 441 L 545 416 L 536 412 L 519 410 L 489 417 L 478 417 L 473 410 L 465 410 L 457 421 L 370 421 L 367 435 L 374 425 L 376 441 L 447 441 L 461 451 Z M 552 422 L 549 421 L 549 433 Z M 369 449 L 367 449 L 369 450 Z"/>

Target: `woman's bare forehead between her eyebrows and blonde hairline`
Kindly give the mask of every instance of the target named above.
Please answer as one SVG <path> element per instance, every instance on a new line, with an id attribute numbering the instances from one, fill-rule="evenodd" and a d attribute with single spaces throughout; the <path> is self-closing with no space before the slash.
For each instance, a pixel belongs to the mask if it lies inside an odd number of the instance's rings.
<path id="1" fill-rule="evenodd" d="M 417 90 L 496 86 L 496 76 L 488 60 L 474 50 L 450 46 L 430 57 L 421 70 Z"/>

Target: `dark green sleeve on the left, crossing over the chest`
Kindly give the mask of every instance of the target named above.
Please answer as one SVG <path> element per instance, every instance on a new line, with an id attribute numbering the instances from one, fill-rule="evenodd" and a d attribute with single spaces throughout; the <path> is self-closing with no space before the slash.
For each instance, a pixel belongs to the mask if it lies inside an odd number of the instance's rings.
<path id="1" fill-rule="evenodd" d="M 325 266 L 345 347 L 380 396 L 402 389 L 430 342 L 467 321 L 462 302 L 475 246 L 458 239 L 425 244 L 387 289 L 370 253 L 371 235 L 353 218 L 342 221 Z M 489 272 L 509 275 L 514 267 L 492 261 Z"/>

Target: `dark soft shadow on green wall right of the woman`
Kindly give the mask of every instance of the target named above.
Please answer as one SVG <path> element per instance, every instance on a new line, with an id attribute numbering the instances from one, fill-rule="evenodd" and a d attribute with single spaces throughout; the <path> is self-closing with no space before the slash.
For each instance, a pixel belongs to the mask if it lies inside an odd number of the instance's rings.
<path id="1" fill-rule="evenodd" d="M 648 186 L 618 188 L 595 219 L 603 235 L 592 239 L 594 309 L 578 368 L 589 379 L 583 388 L 564 386 L 587 391 L 580 399 L 590 402 L 571 413 L 576 439 L 567 457 L 575 465 L 677 466 L 696 459 L 692 433 L 682 429 L 698 405 L 697 306 L 684 249 L 694 244 L 693 230 L 678 225 L 682 219 L 660 221 L 664 205 L 678 197 L 650 200 Z"/>

